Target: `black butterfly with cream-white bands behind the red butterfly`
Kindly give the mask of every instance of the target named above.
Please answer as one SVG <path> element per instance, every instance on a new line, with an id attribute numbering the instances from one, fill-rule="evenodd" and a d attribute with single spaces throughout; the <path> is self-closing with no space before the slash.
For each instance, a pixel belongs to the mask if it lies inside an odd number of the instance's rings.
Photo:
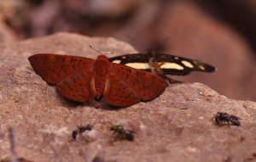
<path id="1" fill-rule="evenodd" d="M 147 53 L 125 54 L 109 58 L 109 61 L 153 72 L 170 83 L 180 81 L 172 80 L 166 75 L 189 75 L 191 71 L 213 72 L 217 70 L 212 65 L 199 60 L 186 59 L 166 53 L 154 53 L 153 50 L 148 50 Z"/>

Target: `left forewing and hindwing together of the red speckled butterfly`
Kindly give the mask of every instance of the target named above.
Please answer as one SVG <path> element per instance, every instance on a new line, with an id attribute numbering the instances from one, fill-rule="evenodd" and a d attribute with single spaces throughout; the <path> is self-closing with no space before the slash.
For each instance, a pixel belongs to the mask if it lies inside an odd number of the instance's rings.
<path id="1" fill-rule="evenodd" d="M 96 98 L 94 59 L 42 53 L 31 56 L 29 61 L 44 81 L 56 84 L 62 96 L 80 102 Z"/>

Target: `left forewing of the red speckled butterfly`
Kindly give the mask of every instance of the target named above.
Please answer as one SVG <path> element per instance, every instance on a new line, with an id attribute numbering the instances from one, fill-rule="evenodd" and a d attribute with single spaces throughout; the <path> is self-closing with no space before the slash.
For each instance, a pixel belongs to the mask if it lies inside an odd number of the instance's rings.
<path id="1" fill-rule="evenodd" d="M 30 64 L 44 81 L 51 84 L 92 68 L 94 59 L 58 54 L 35 54 L 29 58 Z"/>

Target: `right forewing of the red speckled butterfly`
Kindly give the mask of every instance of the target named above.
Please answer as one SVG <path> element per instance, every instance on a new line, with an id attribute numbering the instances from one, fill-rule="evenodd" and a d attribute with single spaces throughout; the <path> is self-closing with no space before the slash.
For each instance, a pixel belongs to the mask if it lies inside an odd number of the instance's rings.
<path id="1" fill-rule="evenodd" d="M 168 86 L 168 83 L 158 75 L 123 64 L 111 64 L 111 72 L 124 84 L 122 87 L 130 87 L 143 101 L 158 97 Z"/>

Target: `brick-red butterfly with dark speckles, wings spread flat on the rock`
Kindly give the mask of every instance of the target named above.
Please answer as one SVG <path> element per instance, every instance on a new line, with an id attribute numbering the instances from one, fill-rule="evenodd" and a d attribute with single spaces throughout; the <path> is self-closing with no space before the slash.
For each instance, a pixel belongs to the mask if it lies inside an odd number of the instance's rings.
<path id="1" fill-rule="evenodd" d="M 29 61 L 44 81 L 56 84 L 62 96 L 79 102 L 103 95 L 109 104 L 130 106 L 158 97 L 168 86 L 158 75 L 110 63 L 105 55 L 88 59 L 42 53 Z"/>

